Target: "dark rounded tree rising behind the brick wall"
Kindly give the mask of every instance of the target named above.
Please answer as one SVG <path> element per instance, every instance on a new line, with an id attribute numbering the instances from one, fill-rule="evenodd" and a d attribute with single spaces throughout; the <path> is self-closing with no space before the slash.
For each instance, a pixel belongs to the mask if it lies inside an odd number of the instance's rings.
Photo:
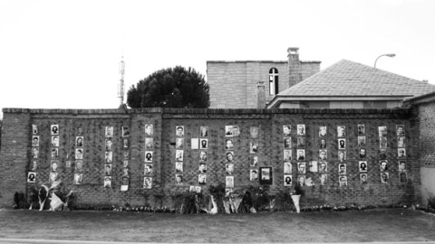
<path id="1" fill-rule="evenodd" d="M 204 76 L 181 66 L 158 70 L 127 92 L 131 108 L 208 108 L 209 88 Z"/>

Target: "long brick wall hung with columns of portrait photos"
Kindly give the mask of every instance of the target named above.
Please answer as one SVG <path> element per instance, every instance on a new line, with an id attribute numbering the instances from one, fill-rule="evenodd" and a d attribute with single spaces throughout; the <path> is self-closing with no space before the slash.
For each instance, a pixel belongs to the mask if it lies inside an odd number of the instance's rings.
<path id="1" fill-rule="evenodd" d="M 0 152 L 0 206 L 12 205 L 14 192 L 29 192 L 34 184 L 48 182 L 51 159 L 50 126 L 59 125 L 60 145 L 58 178 L 68 183 L 70 188 L 78 191 L 78 202 L 82 204 L 153 204 L 152 196 L 163 193 L 165 204 L 170 204 L 170 196 L 187 191 L 190 185 L 201 186 L 207 191 L 210 184 L 225 183 L 226 180 L 226 140 L 231 139 L 234 148 L 234 183 L 235 187 L 259 185 L 250 181 L 249 171 L 259 167 L 272 167 L 273 181 L 271 192 L 289 192 L 293 189 L 298 176 L 304 175 L 314 182 L 314 186 L 305 186 L 304 204 L 391 204 L 420 201 L 420 162 L 418 123 L 411 117 L 410 109 L 103 109 L 103 110 L 38 110 L 38 109 L 4 109 L 4 130 Z M 40 155 L 36 183 L 26 183 L 26 176 L 31 164 L 32 125 L 39 128 L 41 139 Z M 152 125 L 154 133 L 146 136 L 145 125 Z M 290 149 L 294 156 L 291 161 L 294 183 L 292 187 L 284 186 L 284 144 L 283 126 L 291 125 L 292 144 Z M 318 160 L 320 149 L 319 127 L 327 127 L 325 138 L 328 156 L 328 181 L 321 185 L 320 173 L 306 172 L 297 174 L 295 160 L 297 148 L 296 126 L 305 125 L 305 163 Z M 357 144 L 357 125 L 365 126 L 368 163 L 368 183 L 360 183 L 359 146 Z M 404 125 L 407 151 L 408 182 L 400 183 L 397 155 L 396 125 Z M 184 159 L 182 161 L 182 184 L 175 182 L 176 164 L 176 127 L 185 129 Z M 226 136 L 226 126 L 240 128 L 240 136 Z M 346 155 L 343 164 L 347 166 L 347 186 L 338 183 L 338 141 L 337 127 L 346 127 Z M 105 127 L 114 127 L 113 163 L 111 187 L 104 188 L 104 153 Z M 130 127 L 130 147 L 123 148 L 121 127 Z M 200 127 L 208 127 L 208 136 L 200 135 Z M 257 138 L 250 136 L 250 128 L 257 127 Z M 381 183 L 379 161 L 380 142 L 378 127 L 387 127 L 390 183 Z M 76 170 L 66 167 L 66 161 L 74 161 L 74 141 L 82 128 L 84 138 L 83 178 L 82 184 L 73 184 Z M 146 138 L 152 137 L 153 148 L 145 147 Z M 191 139 L 208 140 L 207 149 L 192 149 Z M 250 144 L 258 145 L 256 153 L 250 152 Z M 152 188 L 144 189 L 145 152 L 153 152 Z M 201 151 L 208 153 L 207 183 L 198 184 L 198 164 Z M 130 167 L 130 189 L 121 192 L 124 153 L 128 152 Z M 67 158 L 68 155 L 68 158 Z M 253 157 L 257 156 L 259 164 L 251 166 Z"/>

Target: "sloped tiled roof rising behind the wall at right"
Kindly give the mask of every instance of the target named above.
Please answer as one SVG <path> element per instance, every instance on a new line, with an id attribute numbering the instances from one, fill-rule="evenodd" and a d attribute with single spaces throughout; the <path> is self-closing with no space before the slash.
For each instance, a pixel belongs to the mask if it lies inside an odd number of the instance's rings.
<path id="1" fill-rule="evenodd" d="M 276 97 L 413 97 L 435 86 L 354 61 L 334 63 Z"/>

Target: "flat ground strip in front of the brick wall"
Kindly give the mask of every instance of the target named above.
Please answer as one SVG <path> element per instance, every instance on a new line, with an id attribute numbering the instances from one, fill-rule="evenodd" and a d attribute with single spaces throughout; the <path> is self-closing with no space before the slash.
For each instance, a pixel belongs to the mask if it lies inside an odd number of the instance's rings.
<path id="1" fill-rule="evenodd" d="M 411 209 L 170 214 L 0 211 L 1 239 L 144 242 L 434 241 L 435 215 Z"/>

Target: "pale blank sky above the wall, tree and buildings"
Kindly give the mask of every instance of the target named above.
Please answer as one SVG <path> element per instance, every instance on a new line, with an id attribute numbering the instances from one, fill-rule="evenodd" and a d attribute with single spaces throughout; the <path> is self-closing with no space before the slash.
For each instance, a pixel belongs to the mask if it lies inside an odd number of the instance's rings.
<path id="1" fill-rule="evenodd" d="M 435 85 L 431 0 L 0 0 L 0 108 L 118 108 L 125 90 L 207 61 L 343 59 Z M 125 96 L 126 99 L 126 96 Z M 124 100 L 125 100 L 124 99 Z M 3 117 L 3 113 L 0 113 Z"/>

